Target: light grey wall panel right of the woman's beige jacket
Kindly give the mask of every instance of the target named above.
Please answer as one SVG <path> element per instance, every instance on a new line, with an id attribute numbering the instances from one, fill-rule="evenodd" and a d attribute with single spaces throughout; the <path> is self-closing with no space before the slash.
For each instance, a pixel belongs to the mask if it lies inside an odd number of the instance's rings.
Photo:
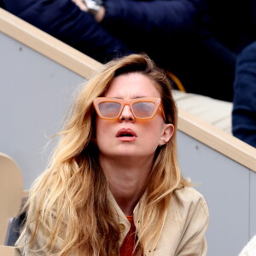
<path id="1" fill-rule="evenodd" d="M 208 255 L 237 255 L 256 234 L 256 173 L 183 132 L 177 145 L 184 177 L 208 203 Z"/>

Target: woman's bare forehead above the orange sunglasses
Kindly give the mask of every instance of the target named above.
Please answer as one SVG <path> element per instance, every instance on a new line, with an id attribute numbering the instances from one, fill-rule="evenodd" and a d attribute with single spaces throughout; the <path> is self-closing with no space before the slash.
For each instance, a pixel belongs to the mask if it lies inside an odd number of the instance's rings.
<path id="1" fill-rule="evenodd" d="M 105 96 L 120 98 L 160 97 L 158 84 L 142 73 L 125 73 L 114 78 Z"/>

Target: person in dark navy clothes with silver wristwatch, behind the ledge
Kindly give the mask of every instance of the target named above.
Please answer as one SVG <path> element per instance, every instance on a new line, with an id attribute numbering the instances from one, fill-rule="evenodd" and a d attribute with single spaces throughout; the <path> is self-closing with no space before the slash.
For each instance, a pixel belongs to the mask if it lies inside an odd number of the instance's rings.
<path id="1" fill-rule="evenodd" d="M 105 0 L 102 20 L 81 0 L 73 0 L 79 7 L 71 0 L 0 1 L 97 61 L 144 52 L 174 73 L 188 92 L 232 101 L 236 54 L 204 22 L 205 0 Z"/>

